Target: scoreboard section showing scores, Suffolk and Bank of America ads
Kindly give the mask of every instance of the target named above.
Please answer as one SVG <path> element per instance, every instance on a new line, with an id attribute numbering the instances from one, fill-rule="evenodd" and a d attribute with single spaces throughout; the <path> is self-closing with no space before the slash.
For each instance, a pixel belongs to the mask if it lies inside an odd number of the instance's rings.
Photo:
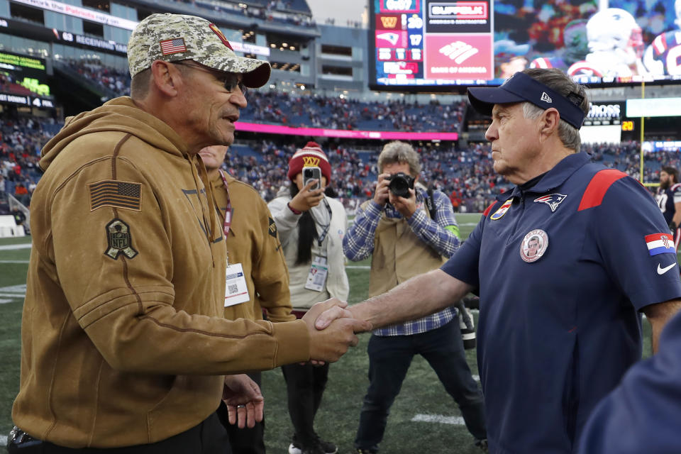
<path id="1" fill-rule="evenodd" d="M 376 83 L 492 79 L 490 0 L 373 0 Z"/>

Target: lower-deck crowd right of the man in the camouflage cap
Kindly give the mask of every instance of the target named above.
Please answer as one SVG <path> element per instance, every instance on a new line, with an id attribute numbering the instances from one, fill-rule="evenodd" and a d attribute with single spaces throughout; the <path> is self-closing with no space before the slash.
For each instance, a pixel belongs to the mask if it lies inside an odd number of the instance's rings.
<path id="1" fill-rule="evenodd" d="M 248 182 L 265 200 L 271 200 L 287 182 L 286 165 L 297 148 L 295 143 L 278 144 L 262 140 L 248 146 L 235 146 L 228 153 L 226 169 Z M 422 182 L 450 196 L 456 210 L 484 211 L 510 184 L 492 168 L 489 144 L 470 144 L 465 150 L 419 146 L 423 170 Z M 638 178 L 639 145 L 587 144 L 584 150 L 593 160 Z M 333 172 L 333 189 L 346 206 L 370 198 L 377 178 L 376 156 L 379 150 L 353 150 L 345 145 L 331 145 L 327 150 Z M 681 165 L 678 153 L 650 153 L 645 157 L 644 181 L 657 182 L 660 167 Z"/>

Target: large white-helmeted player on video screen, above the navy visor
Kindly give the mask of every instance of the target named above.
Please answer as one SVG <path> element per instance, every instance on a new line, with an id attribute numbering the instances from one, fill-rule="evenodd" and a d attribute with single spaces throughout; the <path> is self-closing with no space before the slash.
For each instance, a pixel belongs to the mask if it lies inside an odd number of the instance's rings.
<path id="1" fill-rule="evenodd" d="M 643 33 L 636 19 L 619 8 L 595 13 L 587 22 L 589 53 L 568 68 L 571 76 L 631 77 L 647 74 L 643 66 Z"/>

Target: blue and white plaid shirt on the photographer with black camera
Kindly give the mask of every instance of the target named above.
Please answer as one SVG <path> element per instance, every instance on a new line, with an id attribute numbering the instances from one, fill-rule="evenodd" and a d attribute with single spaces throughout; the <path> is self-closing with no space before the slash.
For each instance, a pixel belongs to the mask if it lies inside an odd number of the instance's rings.
<path id="1" fill-rule="evenodd" d="M 445 194 L 434 191 L 433 201 L 435 202 L 436 213 L 435 218 L 431 219 L 426 211 L 421 209 L 427 197 L 428 194 L 425 189 L 418 188 L 416 190 L 416 212 L 406 220 L 406 223 L 424 244 L 431 246 L 445 258 L 450 258 L 460 245 L 459 228 L 454 217 L 452 204 Z M 374 250 L 376 227 L 384 212 L 388 218 L 402 218 L 402 215 L 391 204 L 380 206 L 375 201 L 370 201 L 365 209 L 357 211 L 355 223 L 348 229 L 348 233 L 343 238 L 343 252 L 347 258 L 357 262 L 371 255 Z M 425 333 L 440 328 L 452 320 L 455 315 L 456 309 L 450 306 L 421 319 L 377 329 L 374 334 L 376 336 L 410 336 L 411 334 Z"/>

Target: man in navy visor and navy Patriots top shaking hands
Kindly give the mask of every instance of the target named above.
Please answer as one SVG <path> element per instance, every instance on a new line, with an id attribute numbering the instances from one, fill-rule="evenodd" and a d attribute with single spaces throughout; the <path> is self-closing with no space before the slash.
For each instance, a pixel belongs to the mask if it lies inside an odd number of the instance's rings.
<path id="1" fill-rule="evenodd" d="M 563 72 L 524 70 L 468 97 L 492 115 L 494 170 L 516 187 L 439 270 L 350 311 L 380 328 L 478 292 L 490 452 L 573 453 L 594 406 L 641 358 L 640 312 L 655 349 L 681 306 L 672 236 L 641 184 L 580 153 L 589 102 Z"/>

